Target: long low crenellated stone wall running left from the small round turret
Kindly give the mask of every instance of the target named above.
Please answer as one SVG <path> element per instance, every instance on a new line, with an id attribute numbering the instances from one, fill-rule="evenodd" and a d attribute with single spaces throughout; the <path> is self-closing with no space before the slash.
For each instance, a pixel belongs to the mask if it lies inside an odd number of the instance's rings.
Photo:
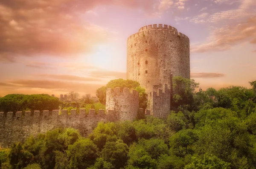
<path id="1" fill-rule="evenodd" d="M 94 109 L 90 109 L 89 114 L 85 113 L 85 109 L 79 112 L 76 109 L 71 110 L 71 115 L 67 114 L 67 110 L 61 110 L 61 115 L 58 110 L 8 112 L 6 115 L 0 112 L 0 146 L 10 146 L 13 142 L 24 141 L 30 135 L 36 136 L 59 127 L 73 127 L 82 136 L 87 136 L 100 121 L 119 120 L 113 110 L 105 113 L 104 109 L 100 109 L 98 114 Z"/>

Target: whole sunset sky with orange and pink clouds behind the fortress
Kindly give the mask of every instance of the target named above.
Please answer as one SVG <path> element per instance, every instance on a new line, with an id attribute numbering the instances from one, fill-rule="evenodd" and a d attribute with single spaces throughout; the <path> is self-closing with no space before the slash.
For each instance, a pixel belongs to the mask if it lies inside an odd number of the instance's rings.
<path id="1" fill-rule="evenodd" d="M 126 78 L 126 40 L 150 24 L 189 37 L 202 89 L 256 80 L 256 0 L 1 0 L 0 96 L 95 95 Z"/>

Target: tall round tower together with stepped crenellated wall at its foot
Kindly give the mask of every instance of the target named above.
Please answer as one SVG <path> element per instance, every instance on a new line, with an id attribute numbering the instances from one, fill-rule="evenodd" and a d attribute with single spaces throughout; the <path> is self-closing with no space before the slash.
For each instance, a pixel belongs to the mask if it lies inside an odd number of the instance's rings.
<path id="1" fill-rule="evenodd" d="M 172 76 L 190 78 L 189 38 L 163 24 L 143 26 L 127 39 L 127 79 L 148 92 L 146 115 L 170 112 Z"/>

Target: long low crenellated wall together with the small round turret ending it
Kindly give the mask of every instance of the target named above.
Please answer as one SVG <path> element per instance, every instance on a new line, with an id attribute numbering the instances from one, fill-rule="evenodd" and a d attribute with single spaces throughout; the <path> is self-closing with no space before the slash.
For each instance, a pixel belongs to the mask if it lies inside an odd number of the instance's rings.
<path id="1" fill-rule="evenodd" d="M 0 146 L 10 146 L 13 142 L 24 141 L 30 135 L 45 133 L 47 130 L 59 127 L 73 127 L 78 129 L 82 136 L 87 136 L 99 122 L 116 122 L 123 120 L 134 120 L 139 109 L 139 93 L 135 90 L 125 88 L 107 89 L 106 110 L 100 109 L 95 112 L 90 109 L 67 110 L 43 112 L 0 112 Z M 61 114 L 61 115 L 59 115 Z"/>

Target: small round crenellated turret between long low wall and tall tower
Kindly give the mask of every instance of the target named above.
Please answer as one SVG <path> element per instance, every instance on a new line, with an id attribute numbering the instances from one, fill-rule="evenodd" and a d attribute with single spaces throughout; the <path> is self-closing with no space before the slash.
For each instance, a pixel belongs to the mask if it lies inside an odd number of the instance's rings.
<path id="1" fill-rule="evenodd" d="M 122 92 L 119 87 L 107 89 L 106 109 L 118 112 L 121 121 L 134 120 L 139 109 L 139 93 L 128 88 L 124 88 Z"/>

